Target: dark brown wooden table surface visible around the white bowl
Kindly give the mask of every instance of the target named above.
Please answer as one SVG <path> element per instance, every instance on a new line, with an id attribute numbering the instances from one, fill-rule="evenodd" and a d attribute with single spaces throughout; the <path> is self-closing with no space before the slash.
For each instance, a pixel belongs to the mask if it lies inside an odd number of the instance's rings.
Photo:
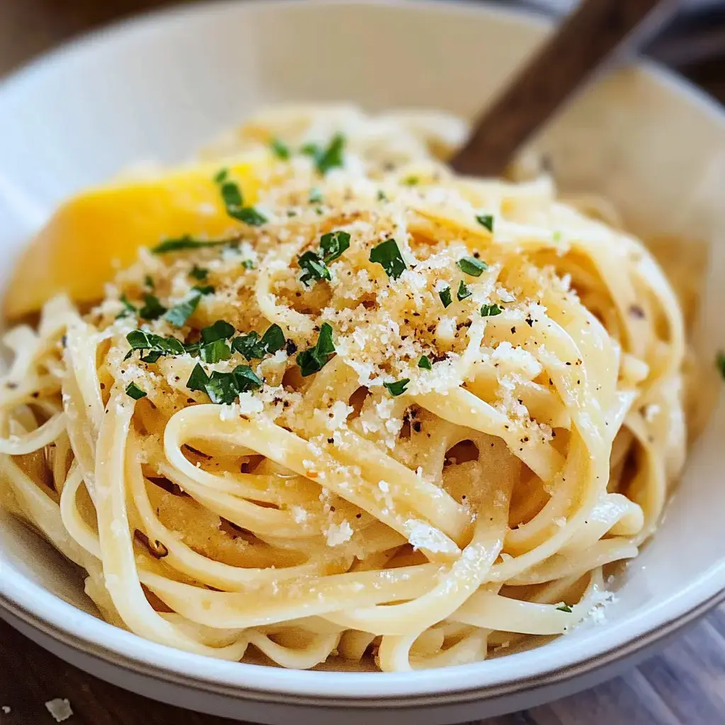
<path id="1" fill-rule="evenodd" d="M 624 1 L 624 0 L 623 0 Z M 83 30 L 168 0 L 0 0 L 0 75 Z M 725 100 L 723 57 L 687 74 Z M 0 220 L 1 223 L 1 220 Z M 53 725 L 45 703 L 67 698 L 68 725 L 223 725 L 132 695 L 46 653 L 0 621 L 1 725 Z M 725 605 L 621 677 L 486 725 L 724 725 Z"/>

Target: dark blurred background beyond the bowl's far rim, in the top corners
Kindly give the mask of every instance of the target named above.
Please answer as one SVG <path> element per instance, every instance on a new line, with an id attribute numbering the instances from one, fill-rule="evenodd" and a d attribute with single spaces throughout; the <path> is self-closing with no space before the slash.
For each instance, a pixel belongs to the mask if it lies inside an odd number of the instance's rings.
<path id="1" fill-rule="evenodd" d="M 569 12 L 577 0 L 498 1 L 560 16 Z M 86 30 L 144 10 L 173 4 L 180 2 L 0 0 L 0 75 Z M 725 101 L 725 0 L 681 0 L 674 21 L 647 43 L 645 52 L 675 67 L 713 96 Z"/>

